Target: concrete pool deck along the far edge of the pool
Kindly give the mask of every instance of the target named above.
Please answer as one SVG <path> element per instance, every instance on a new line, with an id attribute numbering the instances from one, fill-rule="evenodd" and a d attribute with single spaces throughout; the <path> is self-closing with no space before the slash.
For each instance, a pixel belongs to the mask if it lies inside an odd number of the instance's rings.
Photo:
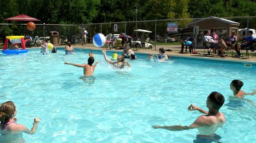
<path id="1" fill-rule="evenodd" d="M 64 47 L 65 45 L 60 45 L 60 46 L 56 46 L 58 47 Z M 109 50 L 108 48 L 96 48 L 93 44 L 88 44 L 86 46 L 82 46 L 82 45 L 72 45 L 74 48 L 81 48 L 81 49 L 89 49 L 89 50 Z M 206 59 L 216 59 L 216 60 L 228 60 L 228 61 L 241 61 L 241 62 L 253 62 L 256 63 L 256 57 L 254 56 L 253 53 L 253 57 L 251 56 L 250 50 L 249 50 L 249 56 L 250 59 L 245 59 L 245 50 L 243 50 L 243 54 L 244 57 L 240 57 L 240 58 L 235 58 L 230 56 L 226 56 L 226 57 L 220 57 L 220 56 L 216 56 L 213 57 L 211 55 L 204 55 L 204 49 L 196 49 L 196 51 L 198 51 L 198 54 L 190 54 L 189 51 L 187 51 L 188 53 L 185 53 L 185 49 L 184 49 L 184 53 L 179 53 L 180 52 L 180 45 L 157 45 L 156 46 L 156 50 L 154 49 L 154 47 L 152 49 L 142 49 L 140 48 L 140 50 L 136 50 L 135 48 L 131 48 L 132 50 L 134 50 L 135 53 L 156 53 L 159 54 L 158 50 L 159 48 L 164 48 L 165 50 L 170 49 L 172 51 L 166 51 L 166 54 L 168 54 L 169 56 L 183 56 L 183 57 L 193 57 L 193 58 L 206 58 Z M 189 50 L 189 49 L 188 49 Z M 110 51 L 119 51 L 122 52 L 123 49 L 117 49 L 117 50 L 110 50 Z M 236 51 L 234 51 L 236 54 Z M 206 52 L 207 53 L 207 52 Z"/>

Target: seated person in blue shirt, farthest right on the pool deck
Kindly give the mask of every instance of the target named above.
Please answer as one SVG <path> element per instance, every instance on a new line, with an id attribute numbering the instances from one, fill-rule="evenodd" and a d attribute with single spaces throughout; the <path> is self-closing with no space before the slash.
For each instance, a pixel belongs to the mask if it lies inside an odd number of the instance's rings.
<path id="1" fill-rule="evenodd" d="M 234 48 L 234 50 L 236 50 L 237 52 L 236 57 L 241 56 L 240 49 L 245 50 L 247 47 L 250 47 L 250 45 L 252 45 L 253 39 L 253 31 L 248 31 L 248 37 L 242 43 L 238 43 L 237 49 Z"/>

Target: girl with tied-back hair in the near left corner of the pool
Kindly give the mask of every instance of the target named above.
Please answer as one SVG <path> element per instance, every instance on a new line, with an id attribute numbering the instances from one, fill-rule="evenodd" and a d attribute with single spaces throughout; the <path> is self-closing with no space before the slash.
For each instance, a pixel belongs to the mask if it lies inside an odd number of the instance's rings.
<path id="1" fill-rule="evenodd" d="M 8 138 L 14 138 L 14 135 L 25 132 L 27 134 L 35 134 L 39 118 L 34 119 L 33 127 L 31 130 L 26 128 L 23 124 L 17 124 L 17 118 L 15 115 L 17 113 L 15 104 L 12 101 L 7 101 L 0 106 L 0 136 L 8 136 Z"/>

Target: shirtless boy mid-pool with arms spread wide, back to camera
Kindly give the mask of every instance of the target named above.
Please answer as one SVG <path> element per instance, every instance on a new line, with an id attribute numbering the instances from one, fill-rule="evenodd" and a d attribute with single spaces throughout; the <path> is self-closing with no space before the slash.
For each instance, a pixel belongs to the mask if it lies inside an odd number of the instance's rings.
<path id="1" fill-rule="evenodd" d="M 64 62 L 64 64 L 70 64 L 70 65 L 73 65 L 76 67 L 84 67 L 84 76 L 86 77 L 86 76 L 93 75 L 94 69 L 95 69 L 96 65 L 98 64 L 98 62 L 96 62 L 93 65 L 93 62 L 94 62 L 94 58 L 92 56 L 90 56 L 88 58 L 88 64 L 73 64 L 73 63 L 69 63 L 69 62 Z"/>

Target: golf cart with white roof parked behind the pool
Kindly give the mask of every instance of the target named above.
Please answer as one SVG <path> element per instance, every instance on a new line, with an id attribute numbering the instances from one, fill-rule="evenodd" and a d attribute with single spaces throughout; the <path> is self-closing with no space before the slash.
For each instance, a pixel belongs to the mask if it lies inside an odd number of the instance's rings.
<path id="1" fill-rule="evenodd" d="M 148 48 L 152 49 L 152 44 L 150 44 L 150 38 L 149 33 L 152 33 L 151 31 L 143 30 L 143 29 L 137 29 L 134 30 L 134 34 L 131 39 L 131 47 L 137 48 Z"/>

